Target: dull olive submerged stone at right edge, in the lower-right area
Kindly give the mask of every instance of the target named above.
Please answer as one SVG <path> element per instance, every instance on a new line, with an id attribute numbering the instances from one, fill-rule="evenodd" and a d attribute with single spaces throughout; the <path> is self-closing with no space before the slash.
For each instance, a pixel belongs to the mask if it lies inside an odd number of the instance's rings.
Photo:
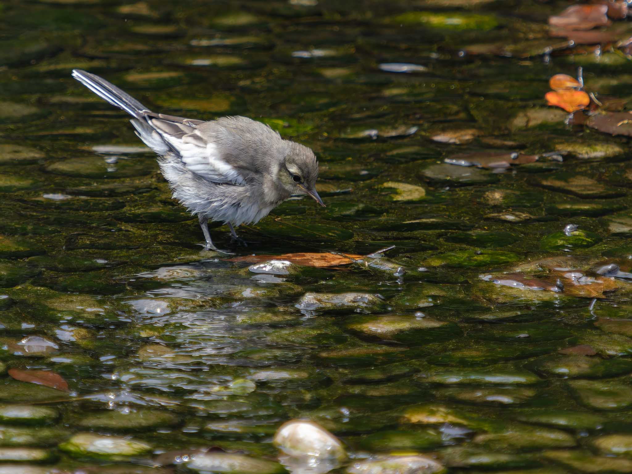
<path id="1" fill-rule="evenodd" d="M 632 386 L 618 380 L 571 380 L 568 382 L 581 403 L 595 410 L 623 410 L 632 405 Z"/>

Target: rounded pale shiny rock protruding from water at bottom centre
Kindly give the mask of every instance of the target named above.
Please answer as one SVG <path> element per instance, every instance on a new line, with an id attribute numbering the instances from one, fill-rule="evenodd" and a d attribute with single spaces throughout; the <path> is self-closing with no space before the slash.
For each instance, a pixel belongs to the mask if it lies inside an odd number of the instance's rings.
<path id="1" fill-rule="evenodd" d="M 292 420 L 284 423 L 274 435 L 274 444 L 291 457 L 320 459 L 346 458 L 344 447 L 338 439 L 317 423 Z"/>

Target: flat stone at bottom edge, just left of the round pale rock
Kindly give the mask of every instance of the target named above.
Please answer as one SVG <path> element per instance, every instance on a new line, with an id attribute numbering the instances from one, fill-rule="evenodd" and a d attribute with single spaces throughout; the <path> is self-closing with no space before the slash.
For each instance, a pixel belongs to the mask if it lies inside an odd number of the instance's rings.
<path id="1" fill-rule="evenodd" d="M 251 458 L 244 454 L 221 452 L 198 454 L 186 467 L 200 473 L 283 474 L 285 472 L 279 463 Z"/>

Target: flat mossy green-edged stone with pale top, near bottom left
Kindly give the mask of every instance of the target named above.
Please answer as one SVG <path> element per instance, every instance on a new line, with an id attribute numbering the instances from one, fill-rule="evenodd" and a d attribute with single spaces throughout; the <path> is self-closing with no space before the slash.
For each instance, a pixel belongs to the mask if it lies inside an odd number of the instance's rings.
<path id="1" fill-rule="evenodd" d="M 116 459 L 127 456 L 141 456 L 149 453 L 152 447 L 149 444 L 131 439 L 80 433 L 59 444 L 59 449 L 76 457 Z"/>

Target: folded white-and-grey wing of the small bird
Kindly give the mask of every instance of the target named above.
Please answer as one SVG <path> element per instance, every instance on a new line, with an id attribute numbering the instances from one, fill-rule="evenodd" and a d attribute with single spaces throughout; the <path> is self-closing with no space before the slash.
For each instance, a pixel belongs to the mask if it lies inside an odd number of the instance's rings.
<path id="1" fill-rule="evenodd" d="M 162 139 L 178 153 L 189 171 L 214 183 L 245 185 L 246 179 L 254 171 L 243 162 L 234 162 L 213 135 L 202 133 L 198 125 L 201 120 L 186 119 L 150 112 L 147 123 L 159 133 Z"/>

